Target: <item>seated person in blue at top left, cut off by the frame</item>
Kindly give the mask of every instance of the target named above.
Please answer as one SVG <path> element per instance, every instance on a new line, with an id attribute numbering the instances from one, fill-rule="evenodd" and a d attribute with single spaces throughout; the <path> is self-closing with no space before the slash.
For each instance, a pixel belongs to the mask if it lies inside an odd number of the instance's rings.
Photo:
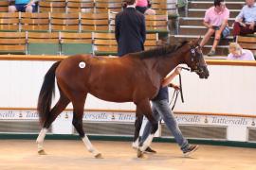
<path id="1" fill-rule="evenodd" d="M 35 0 L 15 0 L 14 5 L 9 6 L 9 12 L 33 12 L 35 10 Z"/>

